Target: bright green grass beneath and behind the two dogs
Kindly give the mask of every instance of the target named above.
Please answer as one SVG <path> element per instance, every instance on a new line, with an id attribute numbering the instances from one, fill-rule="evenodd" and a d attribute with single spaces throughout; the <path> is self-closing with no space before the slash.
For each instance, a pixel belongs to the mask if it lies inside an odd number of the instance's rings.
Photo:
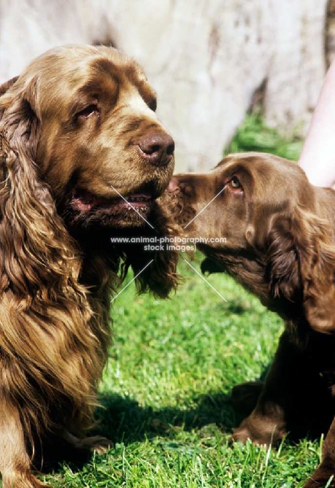
<path id="1" fill-rule="evenodd" d="M 271 150 L 296 159 L 300 147 L 250 115 L 227 152 Z M 242 418 L 229 392 L 264 376 L 283 324 L 231 278 L 208 278 L 226 303 L 182 260 L 179 272 L 186 280 L 172 300 L 137 296 L 134 283 L 115 300 L 97 412 L 100 433 L 114 447 L 41 477 L 52 486 L 301 487 L 319 463 L 320 440 L 229 447 Z"/>

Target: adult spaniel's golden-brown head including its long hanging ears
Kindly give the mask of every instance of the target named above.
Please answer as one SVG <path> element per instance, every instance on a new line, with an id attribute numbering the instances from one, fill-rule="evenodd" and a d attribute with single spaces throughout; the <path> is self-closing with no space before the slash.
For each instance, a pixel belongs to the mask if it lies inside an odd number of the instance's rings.
<path id="1" fill-rule="evenodd" d="M 60 47 L 32 61 L 0 94 L 0 233 L 14 238 L 1 263 L 7 284 L 32 257 L 49 268 L 64 261 L 73 246 L 66 233 L 80 251 L 91 243 L 91 254 L 102 237 L 168 233 L 156 199 L 173 173 L 174 141 L 136 61 L 112 48 Z M 157 286 L 151 269 L 140 277 L 142 288 L 164 296 L 174 286 L 172 254 L 105 250 L 136 271 L 155 259 Z"/>

